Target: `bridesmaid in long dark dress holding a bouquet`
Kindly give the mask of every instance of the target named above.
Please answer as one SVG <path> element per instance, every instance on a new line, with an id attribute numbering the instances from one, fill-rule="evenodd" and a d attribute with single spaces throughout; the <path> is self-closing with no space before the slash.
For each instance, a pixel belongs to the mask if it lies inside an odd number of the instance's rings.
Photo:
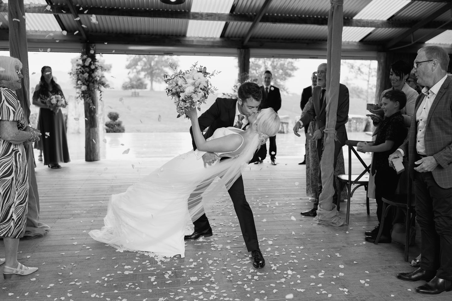
<path id="1" fill-rule="evenodd" d="M 33 105 L 40 107 L 38 129 L 42 133 L 38 148 L 43 151 L 44 165 L 51 168 L 61 168 L 59 162 L 69 162 L 69 150 L 66 139 L 66 126 L 61 109 L 54 113 L 45 104 L 45 100 L 59 94 L 64 97 L 59 84 L 55 83 L 52 68 L 44 66 L 41 69 L 41 80 L 33 93 Z"/>

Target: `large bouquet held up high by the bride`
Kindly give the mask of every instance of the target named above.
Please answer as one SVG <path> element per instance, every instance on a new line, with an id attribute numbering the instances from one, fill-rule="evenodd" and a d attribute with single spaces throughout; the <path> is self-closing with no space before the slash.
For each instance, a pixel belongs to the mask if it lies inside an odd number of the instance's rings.
<path id="1" fill-rule="evenodd" d="M 166 95 L 174 99 L 177 117 L 183 116 L 186 108 L 200 108 L 201 103 L 206 103 L 209 93 L 214 93 L 217 88 L 212 86 L 210 78 L 220 73 L 212 71 L 208 73 L 206 67 L 194 63 L 188 70 L 178 70 L 177 66 L 169 62 L 171 69 L 175 72 L 173 75 L 165 74 Z"/>

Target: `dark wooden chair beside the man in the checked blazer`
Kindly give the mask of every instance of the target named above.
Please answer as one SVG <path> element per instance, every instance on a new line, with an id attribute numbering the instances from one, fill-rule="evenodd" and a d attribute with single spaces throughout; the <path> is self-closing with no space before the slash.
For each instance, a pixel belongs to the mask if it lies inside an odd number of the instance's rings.
<path id="1" fill-rule="evenodd" d="M 407 171 L 405 171 L 407 172 Z M 411 193 L 408 193 L 408 191 L 411 191 Z M 412 187 L 412 181 L 410 179 L 410 176 L 407 177 L 407 185 L 406 185 L 406 191 L 402 191 L 403 193 L 400 194 L 394 194 L 390 197 L 381 198 L 383 201 L 383 208 L 382 208 L 382 216 L 381 216 L 381 226 L 380 230 L 378 231 L 377 237 L 375 239 L 374 244 L 378 244 L 378 241 L 380 240 L 381 232 L 383 232 L 382 225 L 385 222 L 385 218 L 387 217 L 389 213 L 389 209 L 392 207 L 394 208 L 400 208 L 405 212 L 405 261 L 408 261 L 409 256 L 409 249 L 410 249 L 410 234 L 411 234 L 411 225 L 414 225 L 414 219 L 416 218 L 416 211 L 414 210 L 414 193 L 413 193 L 413 187 Z M 413 237 L 415 239 L 415 237 Z"/>

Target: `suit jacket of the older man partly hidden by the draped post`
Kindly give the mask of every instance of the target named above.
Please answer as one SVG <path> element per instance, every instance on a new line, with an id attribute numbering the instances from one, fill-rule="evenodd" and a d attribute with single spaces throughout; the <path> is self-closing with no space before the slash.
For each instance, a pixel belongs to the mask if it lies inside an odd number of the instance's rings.
<path id="1" fill-rule="evenodd" d="M 315 129 L 324 130 L 326 125 L 326 101 L 320 99 L 322 88 L 320 86 L 314 87 L 312 92 L 312 104 L 310 110 L 306 111 L 306 114 L 300 118 L 303 126 L 309 125 L 309 123 L 317 117 Z M 325 97 L 326 99 L 326 97 Z M 336 113 L 336 132 L 339 142 L 342 146 L 347 141 L 347 130 L 345 124 L 348 121 L 348 107 L 349 107 L 349 94 L 348 88 L 342 83 L 339 84 L 339 99 Z M 318 140 L 319 141 L 319 140 Z"/>

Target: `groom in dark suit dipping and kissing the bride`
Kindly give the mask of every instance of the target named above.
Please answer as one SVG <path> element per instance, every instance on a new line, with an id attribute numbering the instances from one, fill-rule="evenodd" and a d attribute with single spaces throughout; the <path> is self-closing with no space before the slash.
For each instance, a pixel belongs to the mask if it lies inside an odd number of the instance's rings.
<path id="1" fill-rule="evenodd" d="M 237 99 L 217 98 L 213 105 L 207 109 L 198 118 L 199 127 L 204 131 L 204 138 L 212 136 L 213 132 L 221 127 L 234 126 L 239 129 L 245 129 L 248 125 L 248 117 L 256 113 L 259 109 L 262 100 L 262 92 L 259 85 L 256 83 L 243 83 L 238 91 Z M 192 135 L 193 149 L 196 150 L 196 144 L 193 139 L 193 130 L 190 127 L 190 134 Z M 226 157 L 221 160 L 227 159 Z M 206 164 L 212 165 L 218 160 L 214 153 L 205 153 L 202 156 L 204 166 Z M 243 178 L 240 177 L 232 184 L 228 190 L 234 204 L 235 213 L 239 219 L 240 229 L 242 230 L 243 239 L 245 240 L 248 252 L 251 252 L 253 259 L 253 266 L 256 269 L 263 268 L 265 265 L 264 257 L 259 250 L 259 241 L 256 233 L 256 226 L 254 225 L 253 212 L 250 205 L 246 201 L 245 189 L 243 187 Z M 201 236 L 212 236 L 212 228 L 209 220 L 204 213 L 200 218 L 193 222 L 194 232 L 190 235 L 184 236 L 186 241 L 198 239 Z"/>

